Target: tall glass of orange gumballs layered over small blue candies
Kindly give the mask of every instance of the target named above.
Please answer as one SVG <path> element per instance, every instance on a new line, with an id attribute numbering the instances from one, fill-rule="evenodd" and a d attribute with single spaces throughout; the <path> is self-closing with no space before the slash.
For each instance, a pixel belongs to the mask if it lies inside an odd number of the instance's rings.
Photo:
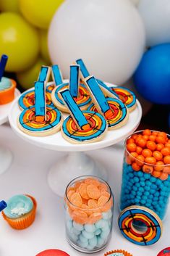
<path id="1" fill-rule="evenodd" d="M 163 220 L 170 195 L 170 137 L 137 131 L 125 141 L 121 210 L 148 207 Z"/>

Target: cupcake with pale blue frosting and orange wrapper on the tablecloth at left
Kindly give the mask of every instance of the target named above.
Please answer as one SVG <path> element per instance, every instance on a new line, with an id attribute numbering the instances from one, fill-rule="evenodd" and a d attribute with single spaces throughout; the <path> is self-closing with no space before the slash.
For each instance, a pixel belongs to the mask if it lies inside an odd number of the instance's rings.
<path id="1" fill-rule="evenodd" d="M 24 229 L 35 220 L 36 206 L 33 197 L 20 194 L 7 201 L 7 208 L 2 211 L 2 215 L 12 228 Z"/>

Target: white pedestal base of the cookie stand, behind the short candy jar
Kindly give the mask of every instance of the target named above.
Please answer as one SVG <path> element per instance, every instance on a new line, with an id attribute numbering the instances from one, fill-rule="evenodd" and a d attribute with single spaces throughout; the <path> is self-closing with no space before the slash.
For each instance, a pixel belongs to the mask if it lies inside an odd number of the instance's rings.
<path id="1" fill-rule="evenodd" d="M 97 176 L 107 180 L 106 169 L 84 152 L 69 152 L 52 166 L 48 173 L 48 184 L 59 197 L 64 197 L 65 189 L 72 179 L 79 176 Z"/>

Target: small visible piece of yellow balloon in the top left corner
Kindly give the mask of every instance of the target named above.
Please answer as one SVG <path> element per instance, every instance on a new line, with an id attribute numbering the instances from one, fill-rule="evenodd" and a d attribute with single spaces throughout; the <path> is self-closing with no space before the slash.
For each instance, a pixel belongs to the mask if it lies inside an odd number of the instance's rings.
<path id="1" fill-rule="evenodd" d="M 0 10 L 1 12 L 20 12 L 19 0 L 1 0 Z"/>

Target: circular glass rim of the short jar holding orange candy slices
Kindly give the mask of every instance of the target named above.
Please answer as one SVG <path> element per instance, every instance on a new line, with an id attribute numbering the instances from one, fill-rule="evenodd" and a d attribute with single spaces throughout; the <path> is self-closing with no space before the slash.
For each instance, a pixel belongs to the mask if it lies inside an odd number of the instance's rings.
<path id="1" fill-rule="evenodd" d="M 83 179 L 85 179 L 85 178 L 97 178 L 99 181 L 102 181 L 103 183 L 106 184 L 106 186 L 108 186 L 110 196 L 109 196 L 109 199 L 107 200 L 107 202 L 103 206 L 98 206 L 98 208 L 82 209 L 81 207 L 77 207 L 77 205 L 72 204 L 72 202 L 67 197 L 67 189 L 69 189 L 70 184 L 74 183 L 74 181 L 76 181 L 77 179 L 80 179 L 80 181 L 83 181 Z M 65 189 L 65 197 L 66 197 L 67 201 L 69 202 L 69 204 L 72 205 L 73 207 L 77 208 L 77 210 L 88 211 L 88 212 L 103 208 L 111 200 L 111 198 L 113 198 L 113 201 L 114 201 L 114 195 L 111 193 L 111 187 L 110 187 L 109 183 L 104 181 L 103 178 L 99 178 L 97 176 L 91 176 L 91 175 L 78 176 L 78 177 L 74 178 L 72 181 L 70 181 Z"/>

